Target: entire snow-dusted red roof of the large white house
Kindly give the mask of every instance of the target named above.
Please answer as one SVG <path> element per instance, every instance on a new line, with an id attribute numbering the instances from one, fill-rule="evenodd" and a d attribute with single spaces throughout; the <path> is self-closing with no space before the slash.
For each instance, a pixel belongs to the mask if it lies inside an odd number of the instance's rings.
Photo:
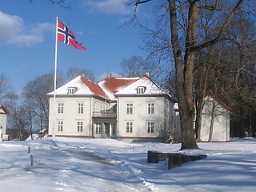
<path id="1" fill-rule="evenodd" d="M 56 95 L 67 95 L 70 87 L 76 88 L 72 95 L 98 95 L 102 98 L 116 100 L 116 95 L 137 94 L 139 86 L 145 87 L 143 94 L 168 94 L 168 91 L 162 90 L 155 82 L 146 75 L 141 78 L 106 78 L 101 82 L 95 83 L 78 76 L 64 86 L 59 87 Z M 52 96 L 54 91 L 48 95 Z"/>

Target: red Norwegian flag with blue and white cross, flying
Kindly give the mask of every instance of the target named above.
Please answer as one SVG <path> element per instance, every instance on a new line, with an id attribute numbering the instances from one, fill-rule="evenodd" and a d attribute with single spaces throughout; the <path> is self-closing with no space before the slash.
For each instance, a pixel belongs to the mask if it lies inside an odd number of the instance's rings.
<path id="1" fill-rule="evenodd" d="M 64 42 L 79 50 L 86 50 L 85 47 L 78 43 L 77 38 L 74 36 L 72 31 L 67 28 L 61 21 L 58 20 L 58 41 Z"/>

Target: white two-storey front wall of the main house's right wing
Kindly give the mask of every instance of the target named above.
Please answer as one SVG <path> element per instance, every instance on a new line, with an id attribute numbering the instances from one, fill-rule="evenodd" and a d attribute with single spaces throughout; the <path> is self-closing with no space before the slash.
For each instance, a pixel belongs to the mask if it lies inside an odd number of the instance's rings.
<path id="1" fill-rule="evenodd" d="M 147 114 L 147 104 L 154 103 L 154 114 Z M 170 104 L 164 97 L 119 97 L 118 137 L 155 138 L 170 128 Z M 133 114 L 126 114 L 126 104 L 133 103 Z M 166 118 L 166 120 L 165 120 Z M 133 122 L 133 132 L 126 133 L 126 122 Z M 154 133 L 148 133 L 147 122 L 154 122 Z"/>

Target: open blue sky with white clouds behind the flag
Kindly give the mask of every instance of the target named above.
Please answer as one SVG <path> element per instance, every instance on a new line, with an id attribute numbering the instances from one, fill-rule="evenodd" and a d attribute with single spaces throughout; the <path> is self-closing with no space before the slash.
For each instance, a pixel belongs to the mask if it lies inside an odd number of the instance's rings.
<path id="1" fill-rule="evenodd" d="M 96 77 L 119 73 L 123 58 L 140 55 L 141 34 L 134 26 L 122 27 L 134 7 L 122 0 L 66 0 L 66 10 L 48 0 L 2 1 L 0 7 L 1 73 L 14 91 L 42 74 L 54 71 L 56 17 L 66 24 L 87 50 L 58 42 L 58 70 L 71 66 L 92 70 Z M 146 12 L 140 10 L 144 16 Z"/>

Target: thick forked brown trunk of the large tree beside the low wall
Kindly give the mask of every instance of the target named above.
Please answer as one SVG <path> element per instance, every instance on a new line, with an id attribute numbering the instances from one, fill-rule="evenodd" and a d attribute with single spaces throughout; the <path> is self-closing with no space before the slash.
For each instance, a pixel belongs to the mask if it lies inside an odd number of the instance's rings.
<path id="1" fill-rule="evenodd" d="M 189 23 L 186 37 L 186 54 L 182 59 L 182 50 L 178 39 L 178 18 L 174 0 L 168 0 L 170 8 L 170 30 L 176 67 L 176 87 L 178 94 L 178 109 L 182 128 L 182 150 L 198 149 L 194 138 L 194 106 L 192 103 L 192 82 L 194 67 L 194 50 L 197 30 L 198 6 L 192 2 L 189 10 Z"/>

